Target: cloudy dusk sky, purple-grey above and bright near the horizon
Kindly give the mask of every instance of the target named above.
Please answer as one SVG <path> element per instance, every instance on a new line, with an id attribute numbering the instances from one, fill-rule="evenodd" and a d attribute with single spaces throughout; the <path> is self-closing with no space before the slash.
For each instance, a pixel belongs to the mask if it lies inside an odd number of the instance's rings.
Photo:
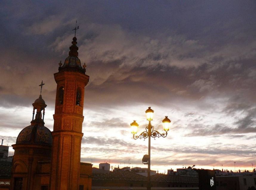
<path id="1" fill-rule="evenodd" d="M 58 63 L 77 30 L 85 88 L 81 161 L 146 167 L 134 140 L 154 110 L 151 169 L 256 165 L 256 1 L 1 1 L 0 138 L 15 144 L 45 85 L 53 130 Z M 9 155 L 13 155 L 10 147 Z M 234 165 L 234 162 L 235 165 Z"/>

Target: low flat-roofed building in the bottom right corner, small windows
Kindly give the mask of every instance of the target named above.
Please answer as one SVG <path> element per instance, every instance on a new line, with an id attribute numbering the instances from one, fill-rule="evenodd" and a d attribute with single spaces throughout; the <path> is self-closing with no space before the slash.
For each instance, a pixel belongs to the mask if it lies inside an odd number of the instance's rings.
<path id="1" fill-rule="evenodd" d="M 216 176 L 216 190 L 247 190 L 252 186 L 256 188 L 256 175 Z"/>

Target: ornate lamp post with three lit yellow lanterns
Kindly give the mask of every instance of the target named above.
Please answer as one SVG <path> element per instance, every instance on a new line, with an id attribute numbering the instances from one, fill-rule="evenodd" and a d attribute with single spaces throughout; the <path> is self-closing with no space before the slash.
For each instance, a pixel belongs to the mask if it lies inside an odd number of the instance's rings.
<path id="1" fill-rule="evenodd" d="M 131 123 L 131 129 L 132 129 L 132 134 L 133 134 L 133 138 L 136 139 L 146 139 L 148 138 L 148 155 L 144 155 L 142 158 L 142 163 L 143 164 L 148 164 L 148 186 L 147 186 L 147 190 L 151 190 L 151 182 L 150 182 L 150 148 L 151 148 L 151 137 L 153 137 L 154 139 L 156 139 L 156 137 L 166 137 L 167 136 L 167 132 L 169 131 L 170 128 L 170 123 L 171 120 L 168 119 L 168 116 L 165 116 L 165 118 L 162 120 L 163 123 L 163 128 L 165 130 L 164 133 L 159 133 L 158 131 L 154 130 L 154 127 L 151 125 L 151 121 L 153 120 L 153 113 L 154 110 L 151 109 L 151 107 L 148 107 L 148 109 L 146 110 L 146 116 L 147 116 L 147 120 L 148 120 L 148 126 L 146 127 L 146 131 L 142 132 L 139 135 L 137 134 L 138 131 L 138 127 L 139 124 L 136 123 L 136 121 L 134 120 Z"/>

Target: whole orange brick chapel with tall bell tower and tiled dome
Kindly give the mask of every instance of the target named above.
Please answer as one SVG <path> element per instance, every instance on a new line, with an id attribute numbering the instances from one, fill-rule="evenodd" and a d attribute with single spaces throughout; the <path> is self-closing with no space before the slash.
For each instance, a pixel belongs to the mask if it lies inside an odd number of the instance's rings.
<path id="1" fill-rule="evenodd" d="M 32 104 L 31 124 L 12 145 L 11 190 L 91 189 L 92 164 L 80 162 L 84 87 L 89 76 L 85 64 L 81 66 L 76 45 L 74 37 L 69 56 L 54 74 L 57 91 L 53 131 L 44 126 L 47 105 L 40 94 Z"/>

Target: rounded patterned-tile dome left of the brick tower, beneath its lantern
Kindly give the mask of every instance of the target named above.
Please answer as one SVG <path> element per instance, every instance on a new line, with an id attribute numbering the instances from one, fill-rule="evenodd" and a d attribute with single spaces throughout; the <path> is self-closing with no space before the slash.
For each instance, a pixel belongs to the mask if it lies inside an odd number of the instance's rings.
<path id="1" fill-rule="evenodd" d="M 52 146 L 52 133 L 43 124 L 30 125 L 22 129 L 16 144 L 40 144 Z"/>

